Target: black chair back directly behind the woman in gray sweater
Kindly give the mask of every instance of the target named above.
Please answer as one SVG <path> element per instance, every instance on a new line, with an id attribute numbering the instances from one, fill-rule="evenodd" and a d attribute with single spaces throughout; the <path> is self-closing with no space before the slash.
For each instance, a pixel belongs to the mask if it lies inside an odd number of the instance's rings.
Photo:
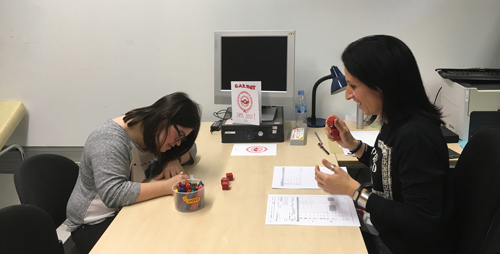
<path id="1" fill-rule="evenodd" d="M 61 155 L 39 154 L 26 159 L 14 172 L 21 204 L 42 208 L 59 227 L 66 220 L 66 205 L 78 171 L 74 161 Z"/>

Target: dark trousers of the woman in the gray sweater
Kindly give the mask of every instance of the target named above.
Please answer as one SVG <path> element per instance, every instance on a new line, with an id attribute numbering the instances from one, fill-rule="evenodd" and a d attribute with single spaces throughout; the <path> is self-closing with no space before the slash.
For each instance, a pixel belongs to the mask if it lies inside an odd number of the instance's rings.
<path id="1" fill-rule="evenodd" d="M 71 238 L 78 250 L 82 254 L 89 253 L 114 219 L 115 216 L 106 218 L 101 223 L 95 225 L 82 225 L 71 232 Z"/>

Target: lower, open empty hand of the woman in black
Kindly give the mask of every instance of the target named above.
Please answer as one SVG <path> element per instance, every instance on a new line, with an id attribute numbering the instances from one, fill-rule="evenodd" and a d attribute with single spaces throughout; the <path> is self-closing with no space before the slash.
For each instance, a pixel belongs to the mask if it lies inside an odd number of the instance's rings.
<path id="1" fill-rule="evenodd" d="M 318 165 L 316 165 L 315 178 L 318 182 L 318 186 L 330 194 L 348 195 L 352 197 L 354 191 L 356 191 L 360 184 L 352 179 L 352 177 L 339 166 L 335 166 L 325 159 L 323 159 L 322 162 L 323 165 L 331 169 L 334 174 L 325 174 L 321 172 Z M 334 166 L 333 168 L 332 165 Z"/>

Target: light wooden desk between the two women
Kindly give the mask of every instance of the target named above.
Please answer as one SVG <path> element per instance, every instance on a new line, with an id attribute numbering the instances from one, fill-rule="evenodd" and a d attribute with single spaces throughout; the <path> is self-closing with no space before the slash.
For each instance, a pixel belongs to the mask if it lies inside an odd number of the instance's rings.
<path id="1" fill-rule="evenodd" d="M 175 210 L 172 196 L 124 207 L 92 250 L 98 253 L 367 253 L 358 227 L 265 225 L 268 194 L 326 194 L 322 190 L 272 189 L 274 166 L 314 166 L 335 155 L 317 146 L 308 130 L 306 146 L 291 146 L 291 122 L 277 156 L 230 156 L 220 132 L 202 123 L 197 163 L 189 174 L 206 183 L 206 206 L 193 213 Z M 318 132 L 326 140 L 324 132 Z M 232 172 L 231 190 L 220 179 Z"/>

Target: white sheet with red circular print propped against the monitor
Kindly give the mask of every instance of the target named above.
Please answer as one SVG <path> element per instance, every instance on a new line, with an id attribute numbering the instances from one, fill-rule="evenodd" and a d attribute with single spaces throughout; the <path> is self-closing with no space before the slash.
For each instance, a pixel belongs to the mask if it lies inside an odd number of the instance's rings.
<path id="1" fill-rule="evenodd" d="M 260 125 L 261 82 L 231 81 L 231 105 L 233 122 Z"/>

